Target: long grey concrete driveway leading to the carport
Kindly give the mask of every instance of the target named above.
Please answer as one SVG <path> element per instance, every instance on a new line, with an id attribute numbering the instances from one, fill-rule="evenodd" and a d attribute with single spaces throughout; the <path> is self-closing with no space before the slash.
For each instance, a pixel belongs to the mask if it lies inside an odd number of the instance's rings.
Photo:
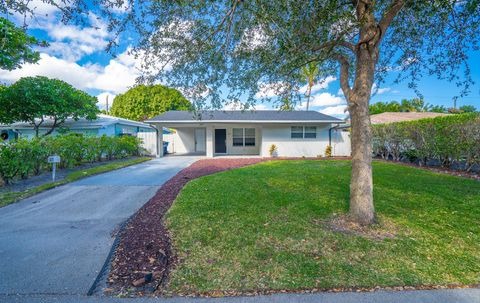
<path id="1" fill-rule="evenodd" d="M 86 294 L 119 224 L 197 159 L 154 159 L 0 208 L 0 295 Z"/>

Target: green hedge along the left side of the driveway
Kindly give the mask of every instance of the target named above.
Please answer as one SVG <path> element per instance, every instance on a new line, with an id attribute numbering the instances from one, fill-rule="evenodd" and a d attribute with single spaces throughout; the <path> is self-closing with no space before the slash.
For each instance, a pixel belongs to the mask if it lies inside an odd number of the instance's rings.
<path id="1" fill-rule="evenodd" d="M 51 169 L 48 156 L 59 155 L 59 168 L 137 156 L 141 140 L 136 137 L 89 137 L 78 134 L 18 139 L 0 144 L 0 177 L 5 184 Z"/>

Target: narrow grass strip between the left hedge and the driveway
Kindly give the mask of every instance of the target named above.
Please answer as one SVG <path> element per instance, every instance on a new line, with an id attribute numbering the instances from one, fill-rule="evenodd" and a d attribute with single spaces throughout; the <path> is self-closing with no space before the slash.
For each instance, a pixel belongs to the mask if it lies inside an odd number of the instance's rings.
<path id="1" fill-rule="evenodd" d="M 68 174 L 64 179 L 55 181 L 55 182 L 49 182 L 45 183 L 42 185 L 39 185 L 37 187 L 33 187 L 24 191 L 19 191 L 19 192 L 3 192 L 0 193 L 0 207 L 6 206 L 8 204 L 17 202 L 19 200 L 31 197 L 33 195 L 36 195 L 42 191 L 52 189 L 54 187 L 67 184 L 85 177 L 105 173 L 111 170 L 127 167 L 130 165 L 134 164 L 139 164 L 145 161 L 151 160 L 151 158 L 148 157 L 140 157 L 140 158 L 134 158 L 134 159 L 128 159 L 125 161 L 118 161 L 118 162 L 113 162 L 113 163 L 107 163 L 104 165 L 99 165 L 96 167 L 84 169 L 84 170 L 78 170 L 75 172 L 72 172 Z"/>

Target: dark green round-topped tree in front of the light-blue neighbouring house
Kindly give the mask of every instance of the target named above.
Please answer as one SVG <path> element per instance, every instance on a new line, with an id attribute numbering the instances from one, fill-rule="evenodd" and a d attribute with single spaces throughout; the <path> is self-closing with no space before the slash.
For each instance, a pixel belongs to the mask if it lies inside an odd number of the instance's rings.
<path id="1" fill-rule="evenodd" d="M 0 90 L 0 123 L 29 122 L 36 136 L 45 118 L 53 123 L 44 135 L 49 135 L 67 118 L 96 118 L 97 98 L 70 84 L 47 77 L 25 77 Z"/>

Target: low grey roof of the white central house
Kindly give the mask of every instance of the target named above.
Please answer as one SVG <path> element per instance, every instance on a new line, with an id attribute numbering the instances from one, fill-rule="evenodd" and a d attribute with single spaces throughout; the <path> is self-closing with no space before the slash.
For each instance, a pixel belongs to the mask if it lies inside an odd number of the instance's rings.
<path id="1" fill-rule="evenodd" d="M 341 123 L 343 120 L 317 111 L 277 111 L 277 110 L 212 110 L 197 113 L 189 111 L 168 111 L 145 122 L 160 123 L 198 123 L 198 122 L 330 122 Z"/>

